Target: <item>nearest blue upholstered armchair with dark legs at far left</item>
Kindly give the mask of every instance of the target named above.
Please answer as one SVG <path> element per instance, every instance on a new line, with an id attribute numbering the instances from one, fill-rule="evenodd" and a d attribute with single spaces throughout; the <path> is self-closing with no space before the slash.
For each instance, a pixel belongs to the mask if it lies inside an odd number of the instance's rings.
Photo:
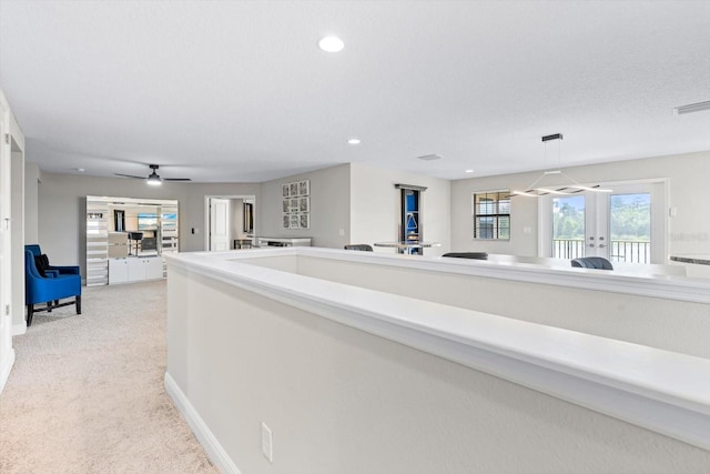
<path id="1" fill-rule="evenodd" d="M 72 297 L 61 303 L 60 300 Z M 36 309 L 36 304 L 47 303 L 47 307 Z M 41 311 L 51 312 L 54 307 L 77 305 L 81 314 L 81 275 L 79 273 L 47 273 L 40 275 L 32 251 L 24 251 L 24 304 L 27 304 L 27 325 L 32 325 L 32 316 Z"/>

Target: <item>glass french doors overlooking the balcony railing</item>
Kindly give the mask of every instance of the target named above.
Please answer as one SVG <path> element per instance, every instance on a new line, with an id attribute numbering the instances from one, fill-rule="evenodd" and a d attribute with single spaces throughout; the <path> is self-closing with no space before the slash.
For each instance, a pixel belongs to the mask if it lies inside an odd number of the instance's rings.
<path id="1" fill-rule="evenodd" d="M 540 254 L 604 256 L 620 263 L 663 263 L 665 182 L 615 184 L 611 193 L 540 199 Z"/>

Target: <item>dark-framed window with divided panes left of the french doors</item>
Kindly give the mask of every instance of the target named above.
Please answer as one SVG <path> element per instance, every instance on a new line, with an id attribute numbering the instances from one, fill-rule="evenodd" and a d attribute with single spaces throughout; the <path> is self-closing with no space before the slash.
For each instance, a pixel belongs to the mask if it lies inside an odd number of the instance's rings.
<path id="1" fill-rule="evenodd" d="M 474 239 L 510 239 L 510 191 L 473 194 Z"/>

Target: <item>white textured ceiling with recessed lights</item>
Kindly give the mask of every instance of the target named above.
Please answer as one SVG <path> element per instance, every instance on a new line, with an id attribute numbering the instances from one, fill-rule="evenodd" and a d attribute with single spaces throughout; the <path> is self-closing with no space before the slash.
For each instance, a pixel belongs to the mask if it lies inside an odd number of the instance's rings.
<path id="1" fill-rule="evenodd" d="M 692 152 L 710 112 L 672 108 L 710 100 L 710 1 L 0 0 L 0 88 L 60 173 L 463 179 L 556 167 L 557 132 L 562 165 Z"/>

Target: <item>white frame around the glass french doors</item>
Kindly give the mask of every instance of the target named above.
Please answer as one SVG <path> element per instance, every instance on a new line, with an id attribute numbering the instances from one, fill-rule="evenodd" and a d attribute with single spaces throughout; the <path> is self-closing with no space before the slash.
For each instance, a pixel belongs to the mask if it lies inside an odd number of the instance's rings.
<path id="1" fill-rule="evenodd" d="M 656 243 L 655 245 L 660 245 L 660 248 L 656 248 L 656 252 L 651 251 L 651 262 L 650 263 L 668 263 L 668 236 L 669 236 L 669 188 L 670 180 L 668 178 L 648 178 L 642 180 L 625 180 L 625 181 L 605 181 L 599 183 L 604 188 L 610 188 L 613 190 L 615 186 L 633 186 L 633 185 L 647 185 L 647 184 L 660 184 L 662 190 L 658 192 L 658 195 L 653 195 L 653 198 L 658 199 L 660 196 L 662 202 L 656 202 L 655 199 L 651 200 L 651 209 L 660 210 L 658 212 L 651 211 L 651 235 L 652 241 L 657 240 L 660 236 L 660 243 Z M 611 193 L 613 194 L 613 193 Z M 552 194 L 547 194 L 538 198 L 538 256 L 540 258 L 550 258 L 551 256 L 551 245 L 549 244 L 552 238 L 552 220 L 551 220 L 551 199 Z M 596 204 L 596 203 L 595 203 Z M 657 215 L 657 219 L 660 219 L 660 223 L 656 222 L 653 216 Z M 662 218 L 661 218 L 662 216 Z M 586 218 L 588 219 L 588 218 Z M 598 219 L 598 218 L 595 218 Z M 588 221 L 587 221 L 588 222 Z M 608 223 L 605 225 L 608 226 Z M 608 229 L 607 229 L 608 230 Z M 587 241 L 585 239 L 585 244 Z M 662 261 L 653 261 L 653 255 L 662 255 Z"/>

